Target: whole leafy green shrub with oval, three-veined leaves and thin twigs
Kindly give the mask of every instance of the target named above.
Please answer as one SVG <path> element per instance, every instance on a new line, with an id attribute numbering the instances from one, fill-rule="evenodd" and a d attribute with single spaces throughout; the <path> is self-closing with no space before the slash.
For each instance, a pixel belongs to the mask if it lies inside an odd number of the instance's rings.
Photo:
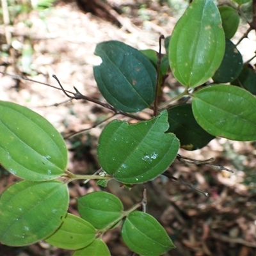
<path id="1" fill-rule="evenodd" d="M 108 180 L 115 179 L 131 187 L 167 175 L 174 159 L 182 157 L 177 154 L 180 147 L 202 148 L 216 136 L 256 140 L 251 83 L 256 75 L 252 68 L 243 67 L 243 58 L 230 40 L 244 1 L 236 3 L 237 9 L 218 8 L 211 0 L 194 0 L 172 36 L 165 39 L 163 58 L 152 50 L 138 51 L 117 41 L 97 45 L 95 55 L 102 63 L 93 72 L 108 104 L 93 102 L 138 120 L 136 124 L 113 120 L 103 129 L 97 149 L 99 175 L 69 172 L 67 147 L 58 131 L 28 108 L 0 101 L 0 163 L 22 179 L 0 198 L 1 243 L 24 246 L 44 239 L 74 250 L 75 256 L 110 255 L 102 236 L 122 225 L 122 238 L 135 253 L 161 255 L 175 248 L 160 223 L 145 212 L 145 194 L 128 210 L 111 193 L 81 196 L 78 217 L 67 213 L 68 183 L 95 179 L 107 186 Z M 162 102 L 161 89 L 169 69 L 184 92 Z M 72 99 L 90 100 L 76 88 L 73 95 L 61 89 Z M 189 100 L 170 107 L 182 97 Z M 149 120 L 132 114 L 145 108 L 152 109 Z M 141 207 L 143 211 L 138 211 Z"/>

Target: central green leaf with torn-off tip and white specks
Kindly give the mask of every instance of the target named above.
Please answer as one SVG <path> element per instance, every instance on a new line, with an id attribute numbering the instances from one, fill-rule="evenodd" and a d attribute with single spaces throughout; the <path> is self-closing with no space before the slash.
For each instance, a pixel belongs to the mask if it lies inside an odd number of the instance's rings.
<path id="1" fill-rule="evenodd" d="M 114 120 L 99 138 L 103 170 L 127 184 L 147 182 L 163 173 L 177 156 L 179 140 L 168 130 L 167 111 L 148 121 L 128 124 Z"/>

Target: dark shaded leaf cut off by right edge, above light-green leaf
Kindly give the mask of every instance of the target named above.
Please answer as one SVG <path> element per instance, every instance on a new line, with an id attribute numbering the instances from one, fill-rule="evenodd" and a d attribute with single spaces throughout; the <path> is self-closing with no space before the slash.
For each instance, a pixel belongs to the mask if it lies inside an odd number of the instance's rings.
<path id="1" fill-rule="evenodd" d="M 240 86 L 256 95 L 256 72 L 253 68 L 244 66 L 239 77 L 232 84 Z"/>

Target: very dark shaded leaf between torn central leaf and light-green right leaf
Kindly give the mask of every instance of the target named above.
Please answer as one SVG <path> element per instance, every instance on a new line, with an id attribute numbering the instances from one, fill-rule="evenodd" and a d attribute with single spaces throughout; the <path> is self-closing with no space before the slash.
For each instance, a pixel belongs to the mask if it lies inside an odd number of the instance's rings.
<path id="1" fill-rule="evenodd" d="M 180 140 L 180 147 L 187 150 L 205 147 L 215 138 L 198 125 L 191 104 L 180 104 L 168 109 L 168 122 L 168 132 L 173 132 Z"/>

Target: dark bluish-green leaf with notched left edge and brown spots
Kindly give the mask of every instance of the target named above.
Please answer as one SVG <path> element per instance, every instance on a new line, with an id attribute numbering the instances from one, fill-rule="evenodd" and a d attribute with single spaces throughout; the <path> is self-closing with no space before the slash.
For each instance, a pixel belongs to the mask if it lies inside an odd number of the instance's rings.
<path id="1" fill-rule="evenodd" d="M 93 67 L 95 80 L 109 104 L 126 112 L 152 104 L 157 74 L 144 54 L 122 42 L 108 41 L 97 44 L 95 55 L 102 59 Z"/>

